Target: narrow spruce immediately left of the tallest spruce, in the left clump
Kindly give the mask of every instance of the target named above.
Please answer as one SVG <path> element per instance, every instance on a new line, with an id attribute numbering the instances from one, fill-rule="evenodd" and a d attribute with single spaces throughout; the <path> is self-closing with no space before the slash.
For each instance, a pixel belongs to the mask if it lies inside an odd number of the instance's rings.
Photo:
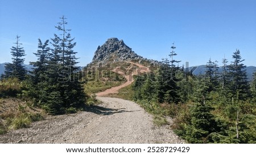
<path id="1" fill-rule="evenodd" d="M 53 49 L 49 51 L 47 54 L 47 70 L 41 74 L 45 75 L 46 79 L 42 79 L 37 84 L 39 89 L 39 104 L 43 107 L 44 110 L 49 114 L 64 114 L 66 112 L 66 108 L 64 106 L 64 97 L 61 96 L 61 88 L 58 80 L 59 74 L 58 70 L 61 68 L 60 66 L 60 46 L 59 40 L 55 38 L 51 38 L 51 45 Z"/>

